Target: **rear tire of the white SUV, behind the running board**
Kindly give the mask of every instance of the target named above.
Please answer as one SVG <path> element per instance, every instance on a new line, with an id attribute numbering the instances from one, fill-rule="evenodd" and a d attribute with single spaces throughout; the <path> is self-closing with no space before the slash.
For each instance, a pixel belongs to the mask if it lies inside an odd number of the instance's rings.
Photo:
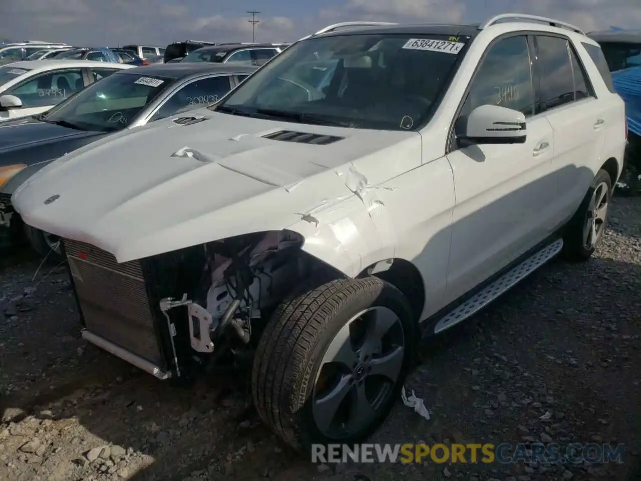
<path id="1" fill-rule="evenodd" d="M 594 206 L 595 201 L 599 199 L 603 199 L 603 201 L 599 206 Z M 610 174 L 601 169 L 592 181 L 578 210 L 567 224 L 565 235 L 563 235 L 563 257 L 566 260 L 584 262 L 592 256 L 594 249 L 608 228 L 611 200 L 612 180 Z M 599 212 L 601 208 L 603 208 L 602 218 L 593 222 L 595 212 Z M 594 224 L 595 228 L 590 230 L 586 239 L 588 222 Z"/>

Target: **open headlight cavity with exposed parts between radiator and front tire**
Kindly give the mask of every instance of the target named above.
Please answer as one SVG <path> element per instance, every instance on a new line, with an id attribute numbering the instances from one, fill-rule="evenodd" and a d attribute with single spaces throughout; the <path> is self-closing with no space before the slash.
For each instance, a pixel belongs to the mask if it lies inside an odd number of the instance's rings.
<path id="1" fill-rule="evenodd" d="M 172 319 L 191 352 L 251 348 L 283 298 L 317 274 L 327 278 L 328 267 L 302 245 L 294 232 L 258 232 L 158 256 L 163 276 L 174 280 L 171 297 L 188 299 L 187 318 L 176 310 Z"/>

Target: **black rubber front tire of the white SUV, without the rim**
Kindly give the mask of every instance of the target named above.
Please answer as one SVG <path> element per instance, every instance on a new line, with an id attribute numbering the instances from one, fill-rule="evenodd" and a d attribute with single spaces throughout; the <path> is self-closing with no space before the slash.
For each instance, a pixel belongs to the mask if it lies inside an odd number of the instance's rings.
<path id="1" fill-rule="evenodd" d="M 372 310 L 363 314 L 362 319 L 352 320 L 356 314 L 369 308 Z M 388 340 L 396 339 L 395 344 L 391 341 L 389 343 L 396 347 L 388 351 L 396 354 L 372 357 L 369 359 L 372 364 L 365 362 L 351 366 L 351 371 L 345 369 L 345 364 L 325 364 L 324 361 L 329 359 L 329 348 L 337 345 L 332 344 L 332 341 L 338 336 L 349 332 L 351 328 L 357 330 L 360 325 L 372 322 L 373 316 L 378 314 L 381 317 L 376 319 L 388 319 L 384 315 L 392 319 L 390 312 L 397 316 L 397 321 L 394 321 L 386 335 L 389 337 L 385 337 L 385 342 L 381 345 L 387 345 Z M 346 327 L 348 325 L 351 327 Z M 407 300 L 393 285 L 379 278 L 333 280 L 302 295 L 292 296 L 276 308 L 256 348 L 251 379 L 256 410 L 263 422 L 298 451 L 309 452 L 313 443 L 358 443 L 378 428 L 399 398 L 404 378 L 416 353 L 417 338 L 417 323 Z M 404 342 L 402 361 L 397 357 L 400 339 Z M 367 344 L 370 345 L 372 344 Z M 364 346 L 356 350 L 357 355 L 364 355 L 365 352 Z M 392 356 L 396 360 L 395 366 L 400 366 L 395 382 L 384 376 L 368 374 L 368 369 L 376 366 L 374 362 L 392 359 Z M 380 368 L 383 364 L 378 366 Z M 351 387 L 348 388 L 343 407 L 345 402 L 350 406 L 350 400 L 356 398 L 356 392 L 363 392 L 360 389 L 378 385 L 378 382 L 387 390 L 387 396 L 381 397 L 371 418 L 366 422 L 358 423 L 354 420 L 353 426 L 356 427 L 349 432 L 342 431 L 344 426 L 334 426 L 333 429 L 337 432 L 328 434 L 330 428 L 319 428 L 315 418 L 315 412 L 328 412 L 314 409 L 316 396 L 320 399 L 320 393 L 315 388 L 320 385 L 320 379 L 326 379 L 326 373 L 333 368 L 342 373 L 342 380 L 351 376 L 351 382 L 354 383 L 347 383 Z M 386 382 L 382 382 L 383 379 Z M 331 380 L 328 384 L 331 385 Z M 368 404 L 371 407 L 369 400 Z M 362 410 L 358 409 L 356 412 L 360 413 Z"/>

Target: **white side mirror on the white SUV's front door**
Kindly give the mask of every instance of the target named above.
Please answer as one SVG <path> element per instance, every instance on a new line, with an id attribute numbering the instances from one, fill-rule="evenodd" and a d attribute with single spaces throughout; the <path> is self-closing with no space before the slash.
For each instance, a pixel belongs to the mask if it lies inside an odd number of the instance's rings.
<path id="1" fill-rule="evenodd" d="M 480 105 L 467 117 L 465 144 L 524 144 L 527 139 L 525 115 L 498 105 Z"/>

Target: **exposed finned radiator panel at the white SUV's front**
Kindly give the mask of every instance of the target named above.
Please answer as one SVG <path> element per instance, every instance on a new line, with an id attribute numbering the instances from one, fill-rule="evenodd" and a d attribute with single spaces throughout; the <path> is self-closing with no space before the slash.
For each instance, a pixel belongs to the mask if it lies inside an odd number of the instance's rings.
<path id="1" fill-rule="evenodd" d="M 119 264 L 85 242 L 64 239 L 63 246 L 87 330 L 163 366 L 140 262 Z"/>

